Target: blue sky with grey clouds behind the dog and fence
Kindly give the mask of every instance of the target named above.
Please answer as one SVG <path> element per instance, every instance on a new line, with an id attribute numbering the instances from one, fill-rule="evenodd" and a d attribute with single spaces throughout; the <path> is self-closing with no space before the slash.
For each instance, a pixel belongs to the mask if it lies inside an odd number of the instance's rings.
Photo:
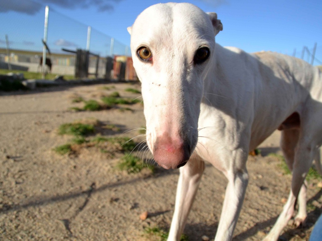
<path id="1" fill-rule="evenodd" d="M 87 27 L 92 27 L 91 51 L 109 54 L 110 38 L 115 49 L 125 51 L 130 36 L 126 30 L 145 8 L 163 0 L 10 0 L 0 2 L 0 48 L 8 34 L 10 47 L 41 50 L 44 6 L 49 5 L 48 44 L 50 48 L 85 48 Z M 217 43 L 248 52 L 277 51 L 301 57 L 303 46 L 312 52 L 317 42 L 316 58 L 322 61 L 321 0 L 191 0 L 206 12 L 216 12 L 223 22 Z M 118 47 L 119 45 L 119 47 Z M 115 50 L 114 52 L 116 52 Z M 305 52 L 305 60 L 309 55 Z M 315 61 L 314 65 L 321 65 Z"/>

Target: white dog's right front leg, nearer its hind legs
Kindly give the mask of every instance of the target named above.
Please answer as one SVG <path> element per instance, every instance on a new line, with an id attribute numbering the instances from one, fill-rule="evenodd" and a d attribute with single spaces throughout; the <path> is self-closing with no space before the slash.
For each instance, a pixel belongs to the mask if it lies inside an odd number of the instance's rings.
<path id="1" fill-rule="evenodd" d="M 232 234 L 239 217 L 248 184 L 246 167 L 243 170 L 228 172 L 223 209 L 220 216 L 215 241 L 232 240 Z"/>

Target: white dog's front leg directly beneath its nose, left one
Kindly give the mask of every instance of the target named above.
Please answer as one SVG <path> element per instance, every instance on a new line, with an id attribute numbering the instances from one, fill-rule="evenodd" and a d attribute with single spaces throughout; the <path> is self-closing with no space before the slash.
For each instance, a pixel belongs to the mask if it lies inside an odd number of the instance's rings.
<path id="1" fill-rule="evenodd" d="M 175 211 L 167 239 L 168 241 L 180 240 L 198 190 L 200 178 L 204 171 L 204 162 L 198 157 L 197 159 L 190 158 L 188 163 L 179 170 L 180 175 L 175 197 Z"/>

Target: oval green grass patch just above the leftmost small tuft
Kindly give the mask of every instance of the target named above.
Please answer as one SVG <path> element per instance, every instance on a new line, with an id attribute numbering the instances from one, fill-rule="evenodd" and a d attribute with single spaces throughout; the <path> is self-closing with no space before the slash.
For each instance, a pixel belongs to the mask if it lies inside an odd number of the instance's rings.
<path id="1" fill-rule="evenodd" d="M 73 135 L 85 136 L 95 131 L 94 125 L 82 123 L 66 123 L 59 127 L 58 134 L 60 135 Z"/>

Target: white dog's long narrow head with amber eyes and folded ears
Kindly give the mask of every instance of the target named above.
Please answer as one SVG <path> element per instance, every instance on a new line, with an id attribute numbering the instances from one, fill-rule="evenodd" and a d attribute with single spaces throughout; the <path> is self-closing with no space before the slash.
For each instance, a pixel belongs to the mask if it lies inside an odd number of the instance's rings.
<path id="1" fill-rule="evenodd" d="M 185 165 L 196 146 L 203 82 L 222 29 L 216 13 L 186 3 L 153 5 L 128 28 L 147 144 L 166 169 Z"/>

